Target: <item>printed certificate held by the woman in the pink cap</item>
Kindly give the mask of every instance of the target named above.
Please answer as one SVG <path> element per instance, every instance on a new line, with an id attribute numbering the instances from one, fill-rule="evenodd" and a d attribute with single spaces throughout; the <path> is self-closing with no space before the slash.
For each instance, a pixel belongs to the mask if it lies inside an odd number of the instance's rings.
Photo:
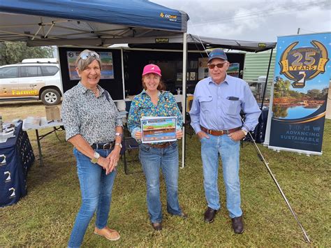
<path id="1" fill-rule="evenodd" d="M 142 143 L 176 140 L 176 117 L 142 117 Z"/>

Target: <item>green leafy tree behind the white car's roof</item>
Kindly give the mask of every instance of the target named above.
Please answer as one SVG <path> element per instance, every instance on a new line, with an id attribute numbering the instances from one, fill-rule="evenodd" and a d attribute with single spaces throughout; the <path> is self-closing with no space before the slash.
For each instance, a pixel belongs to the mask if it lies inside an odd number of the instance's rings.
<path id="1" fill-rule="evenodd" d="M 0 43 L 0 66 L 15 64 L 23 59 L 51 58 L 52 47 L 30 48 L 25 42 L 2 42 Z"/>

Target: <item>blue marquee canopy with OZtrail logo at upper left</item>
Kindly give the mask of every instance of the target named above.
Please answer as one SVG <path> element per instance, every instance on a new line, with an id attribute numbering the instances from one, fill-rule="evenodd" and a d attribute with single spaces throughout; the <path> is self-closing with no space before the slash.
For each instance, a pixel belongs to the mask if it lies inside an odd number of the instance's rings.
<path id="1" fill-rule="evenodd" d="M 145 0 L 3 0 L 0 15 L 0 40 L 29 45 L 108 46 L 106 38 L 184 33 L 189 19 Z"/>

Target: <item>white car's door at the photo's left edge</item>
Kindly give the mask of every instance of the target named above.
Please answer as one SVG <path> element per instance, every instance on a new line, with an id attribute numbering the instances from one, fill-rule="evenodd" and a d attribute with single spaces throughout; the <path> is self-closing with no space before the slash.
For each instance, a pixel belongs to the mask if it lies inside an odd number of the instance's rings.
<path id="1" fill-rule="evenodd" d="M 18 66 L 0 68 L 0 97 L 15 97 L 19 92 Z"/>

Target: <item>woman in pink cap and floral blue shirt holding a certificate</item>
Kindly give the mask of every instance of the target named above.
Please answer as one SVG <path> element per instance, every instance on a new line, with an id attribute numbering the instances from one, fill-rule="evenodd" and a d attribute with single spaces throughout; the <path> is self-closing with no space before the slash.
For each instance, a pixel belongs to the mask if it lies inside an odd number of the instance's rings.
<path id="1" fill-rule="evenodd" d="M 140 142 L 142 132 L 141 117 L 177 117 L 176 138 L 182 133 L 182 114 L 175 97 L 165 91 L 161 82 L 161 70 L 155 64 L 148 64 L 142 72 L 144 89 L 135 96 L 128 113 L 128 130 L 133 138 Z M 154 230 L 162 230 L 162 209 L 160 199 L 160 168 L 167 188 L 167 211 L 183 219 L 187 215 L 182 212 L 178 202 L 178 147 L 177 141 L 166 143 L 140 143 L 139 158 L 144 170 L 147 184 L 147 209 Z"/>

